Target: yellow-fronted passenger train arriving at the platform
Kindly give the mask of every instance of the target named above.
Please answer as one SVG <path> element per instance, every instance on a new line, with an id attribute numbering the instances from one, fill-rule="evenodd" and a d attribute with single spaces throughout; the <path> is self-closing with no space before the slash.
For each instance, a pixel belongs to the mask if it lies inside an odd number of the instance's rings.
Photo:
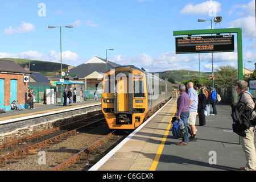
<path id="1" fill-rule="evenodd" d="M 170 100 L 172 84 L 134 66 L 105 73 L 102 112 L 110 129 L 136 129 Z"/>

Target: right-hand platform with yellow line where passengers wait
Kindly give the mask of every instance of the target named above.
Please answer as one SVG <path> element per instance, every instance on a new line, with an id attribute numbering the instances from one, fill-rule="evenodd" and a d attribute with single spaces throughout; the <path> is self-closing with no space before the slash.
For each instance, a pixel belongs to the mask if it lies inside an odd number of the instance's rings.
<path id="1" fill-rule="evenodd" d="M 218 114 L 206 117 L 205 126 L 197 116 L 197 141 L 177 146 L 182 139 L 171 131 L 176 102 L 169 101 L 89 171 L 236 171 L 245 166 L 230 105 L 218 104 Z"/>

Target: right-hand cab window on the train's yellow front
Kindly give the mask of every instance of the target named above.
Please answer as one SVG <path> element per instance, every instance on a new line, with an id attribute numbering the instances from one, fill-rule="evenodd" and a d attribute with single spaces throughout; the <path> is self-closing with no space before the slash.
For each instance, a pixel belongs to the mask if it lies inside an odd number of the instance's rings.
<path id="1" fill-rule="evenodd" d="M 145 97 L 142 75 L 134 74 L 134 97 Z"/>

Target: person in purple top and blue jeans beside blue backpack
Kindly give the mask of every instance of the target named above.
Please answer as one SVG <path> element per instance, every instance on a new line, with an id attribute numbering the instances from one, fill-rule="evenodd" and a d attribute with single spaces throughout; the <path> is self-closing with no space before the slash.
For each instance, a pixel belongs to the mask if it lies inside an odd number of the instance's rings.
<path id="1" fill-rule="evenodd" d="M 188 144 L 188 118 L 189 118 L 189 97 L 188 94 L 185 92 L 186 87 L 185 85 L 181 84 L 179 86 L 180 97 L 177 99 L 177 119 L 181 119 L 184 122 L 186 135 L 183 137 L 182 142 L 178 143 L 177 145 L 183 146 Z"/>

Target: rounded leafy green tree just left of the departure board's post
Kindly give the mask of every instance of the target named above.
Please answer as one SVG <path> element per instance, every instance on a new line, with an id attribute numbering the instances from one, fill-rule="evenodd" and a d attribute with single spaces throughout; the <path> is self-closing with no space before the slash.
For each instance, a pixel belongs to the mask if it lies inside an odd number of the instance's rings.
<path id="1" fill-rule="evenodd" d="M 235 88 L 238 81 L 238 71 L 230 65 L 223 65 L 214 73 L 215 88 Z"/>

